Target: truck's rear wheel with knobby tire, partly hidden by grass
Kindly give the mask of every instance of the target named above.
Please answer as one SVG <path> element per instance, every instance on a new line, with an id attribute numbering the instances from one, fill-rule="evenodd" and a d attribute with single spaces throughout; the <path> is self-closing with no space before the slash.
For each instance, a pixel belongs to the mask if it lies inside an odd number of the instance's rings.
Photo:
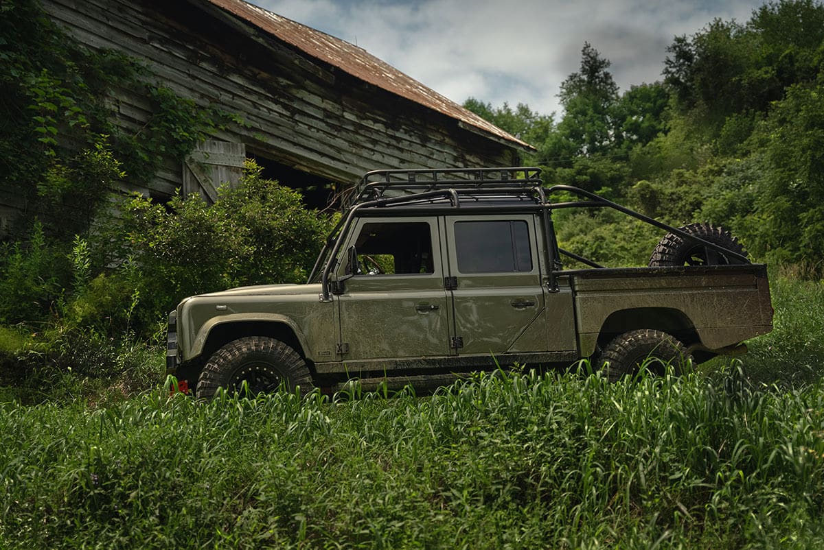
<path id="1" fill-rule="evenodd" d="M 660 330 L 639 329 L 623 333 L 606 345 L 598 358 L 598 368 L 610 382 L 632 376 L 641 368 L 664 375 L 667 367 L 681 375 L 691 362 L 690 353 L 677 338 Z"/>

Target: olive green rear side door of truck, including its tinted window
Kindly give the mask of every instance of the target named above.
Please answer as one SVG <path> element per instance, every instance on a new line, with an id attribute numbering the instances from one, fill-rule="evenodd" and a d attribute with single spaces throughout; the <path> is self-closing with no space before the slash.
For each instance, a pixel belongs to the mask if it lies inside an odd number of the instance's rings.
<path id="1" fill-rule="evenodd" d="M 459 355 L 550 349 L 531 214 L 445 218 L 447 282 Z"/>

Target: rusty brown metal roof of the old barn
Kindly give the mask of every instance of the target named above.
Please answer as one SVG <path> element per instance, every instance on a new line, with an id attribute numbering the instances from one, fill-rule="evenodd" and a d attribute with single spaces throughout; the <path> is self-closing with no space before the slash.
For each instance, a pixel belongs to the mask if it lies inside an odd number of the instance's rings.
<path id="1" fill-rule="evenodd" d="M 312 29 L 297 21 L 292 21 L 261 7 L 253 6 L 244 0 L 207 0 L 222 10 L 232 13 L 250 24 L 264 30 L 279 40 L 293 45 L 313 58 L 329 63 L 353 77 L 390 91 L 397 96 L 414 101 L 428 109 L 446 114 L 459 123 L 480 130 L 482 135 L 491 134 L 513 146 L 534 149 L 527 142 L 504 132 L 494 124 L 480 118 L 470 110 L 438 94 L 437 91 L 424 86 L 414 78 L 400 72 L 389 63 L 383 62 L 363 48 L 349 44 L 335 36 Z"/>

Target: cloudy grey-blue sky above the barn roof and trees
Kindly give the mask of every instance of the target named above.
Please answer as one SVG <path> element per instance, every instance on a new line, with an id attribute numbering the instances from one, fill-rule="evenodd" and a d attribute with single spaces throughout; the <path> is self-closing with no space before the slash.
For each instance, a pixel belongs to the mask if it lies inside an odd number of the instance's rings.
<path id="1" fill-rule="evenodd" d="M 661 80 L 667 46 L 715 18 L 745 23 L 765 0 L 250 0 L 357 44 L 456 103 L 526 103 L 562 113 L 557 94 L 584 41 L 622 91 Z"/>

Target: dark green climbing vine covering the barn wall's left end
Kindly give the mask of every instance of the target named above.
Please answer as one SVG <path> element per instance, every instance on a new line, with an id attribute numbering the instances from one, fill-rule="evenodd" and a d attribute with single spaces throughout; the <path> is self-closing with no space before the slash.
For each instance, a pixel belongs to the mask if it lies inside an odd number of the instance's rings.
<path id="1" fill-rule="evenodd" d="M 151 105 L 140 128 L 116 124 L 126 90 Z M 39 221 L 46 235 L 72 240 L 121 181 L 144 186 L 166 159 L 182 161 L 241 123 L 178 96 L 135 58 L 88 49 L 35 0 L 0 0 L 0 97 L 0 187 L 22 212 L 12 239 Z"/>

